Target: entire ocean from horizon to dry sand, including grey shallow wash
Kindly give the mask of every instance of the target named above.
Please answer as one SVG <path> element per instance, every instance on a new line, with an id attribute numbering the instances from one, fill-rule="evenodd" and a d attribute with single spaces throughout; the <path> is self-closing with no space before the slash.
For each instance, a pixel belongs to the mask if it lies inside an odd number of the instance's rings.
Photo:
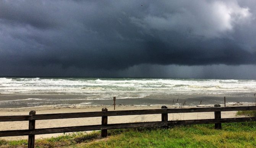
<path id="1" fill-rule="evenodd" d="M 112 105 L 114 96 L 117 105 L 251 103 L 254 93 L 256 80 L 0 77 L 0 108 Z"/>

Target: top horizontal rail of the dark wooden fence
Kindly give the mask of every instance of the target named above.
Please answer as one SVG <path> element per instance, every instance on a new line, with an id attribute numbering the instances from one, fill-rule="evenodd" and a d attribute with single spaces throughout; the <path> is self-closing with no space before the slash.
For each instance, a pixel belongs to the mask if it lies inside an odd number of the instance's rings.
<path id="1" fill-rule="evenodd" d="M 102 117 L 102 116 L 127 116 L 142 114 L 166 114 L 166 113 L 197 113 L 197 112 L 214 112 L 214 111 L 245 111 L 256 110 L 256 106 L 235 106 L 235 107 L 209 107 L 209 108 L 174 108 L 174 109 L 143 109 L 143 110 L 125 110 L 125 111 L 96 111 L 83 113 L 58 113 L 58 114 L 36 114 L 33 117 L 24 116 L 0 116 L 0 122 L 4 121 L 28 121 L 49 120 L 49 119 L 67 119 L 82 117 Z"/>

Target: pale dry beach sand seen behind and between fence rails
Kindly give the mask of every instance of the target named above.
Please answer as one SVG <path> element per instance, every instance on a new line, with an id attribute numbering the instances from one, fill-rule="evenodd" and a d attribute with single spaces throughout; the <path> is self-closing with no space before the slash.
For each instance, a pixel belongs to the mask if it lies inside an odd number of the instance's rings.
<path id="1" fill-rule="evenodd" d="M 251 104 L 233 103 L 228 106 L 248 106 Z M 169 105 L 169 108 L 177 108 L 178 106 Z M 186 106 L 184 108 L 192 108 L 193 106 Z M 195 107 L 195 106 L 194 106 Z M 200 106 L 207 107 L 207 106 Z M 213 106 L 208 106 L 213 107 Z M 102 108 L 107 108 L 109 111 L 113 110 L 113 106 L 86 106 L 82 108 L 68 107 L 68 108 L 47 108 L 47 107 L 36 107 L 36 108 L 21 108 L 21 109 L 1 109 L 0 116 L 10 115 L 27 115 L 29 111 L 35 110 L 36 114 L 51 114 L 51 113 L 78 113 L 78 112 L 89 112 L 89 111 L 101 111 Z M 116 106 L 116 110 L 135 110 L 135 109 L 160 109 L 160 105 L 154 106 Z M 235 117 L 236 111 L 222 112 L 223 118 Z M 213 119 L 214 113 L 180 113 L 180 114 L 169 114 L 169 120 L 188 120 L 188 119 Z M 160 114 L 151 115 L 133 115 L 133 116 L 111 116 L 108 118 L 109 124 L 114 123 L 127 123 L 127 122 L 146 122 L 146 121 L 161 121 Z M 50 128 L 50 127 L 68 127 L 68 126 L 81 126 L 81 125 L 96 125 L 101 124 L 101 117 L 88 117 L 88 118 L 73 118 L 73 119 L 53 119 L 53 120 L 39 120 L 36 121 L 36 128 Z M 0 122 L 0 130 L 21 130 L 28 129 L 28 121 L 16 121 L 16 122 Z M 90 132 L 90 131 L 89 131 Z M 63 135 L 58 134 L 45 134 L 36 135 L 36 139 L 55 137 Z M 17 137 L 1 137 L 5 140 L 20 140 L 27 139 L 28 136 L 17 136 Z"/>

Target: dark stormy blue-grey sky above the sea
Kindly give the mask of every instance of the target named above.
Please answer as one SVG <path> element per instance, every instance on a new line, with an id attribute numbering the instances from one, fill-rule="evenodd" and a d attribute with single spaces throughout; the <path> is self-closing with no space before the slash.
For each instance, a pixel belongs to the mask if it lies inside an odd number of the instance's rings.
<path id="1" fill-rule="evenodd" d="M 0 76 L 256 79 L 255 8 L 255 0 L 0 0 Z"/>

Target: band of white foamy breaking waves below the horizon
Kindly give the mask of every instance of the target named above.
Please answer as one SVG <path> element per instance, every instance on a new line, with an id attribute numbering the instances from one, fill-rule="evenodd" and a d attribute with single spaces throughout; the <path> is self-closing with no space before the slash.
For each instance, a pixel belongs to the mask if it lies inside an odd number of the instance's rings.
<path id="1" fill-rule="evenodd" d="M 141 98 L 166 94 L 254 93 L 255 90 L 256 80 L 0 78 L 1 94 L 97 94 L 98 98 L 104 96 L 103 99 L 113 95 L 118 98 Z"/>

